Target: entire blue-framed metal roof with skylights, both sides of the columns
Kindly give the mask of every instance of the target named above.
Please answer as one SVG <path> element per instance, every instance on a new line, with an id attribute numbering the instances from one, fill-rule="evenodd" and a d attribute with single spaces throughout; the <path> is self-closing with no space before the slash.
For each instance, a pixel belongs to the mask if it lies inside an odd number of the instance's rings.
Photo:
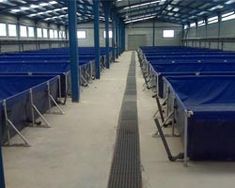
<path id="1" fill-rule="evenodd" d="M 88 22 L 94 18 L 95 0 L 77 0 L 78 21 Z M 131 23 L 146 19 L 178 24 L 204 20 L 220 13 L 231 12 L 235 0 L 103 0 L 110 1 L 118 15 Z M 56 24 L 68 23 L 67 0 L 0 0 L 0 13 L 28 17 L 37 21 Z M 113 9 L 112 9 L 113 10 Z M 100 8 L 103 20 L 103 7 Z"/>

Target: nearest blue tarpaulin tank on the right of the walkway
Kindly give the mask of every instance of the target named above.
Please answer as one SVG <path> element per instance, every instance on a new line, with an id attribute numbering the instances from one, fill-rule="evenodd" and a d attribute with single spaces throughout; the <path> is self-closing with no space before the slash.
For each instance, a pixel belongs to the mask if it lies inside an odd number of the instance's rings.
<path id="1" fill-rule="evenodd" d="M 167 80 L 178 96 L 177 108 L 193 111 L 188 118 L 188 156 L 194 160 L 235 160 L 235 76 Z"/>

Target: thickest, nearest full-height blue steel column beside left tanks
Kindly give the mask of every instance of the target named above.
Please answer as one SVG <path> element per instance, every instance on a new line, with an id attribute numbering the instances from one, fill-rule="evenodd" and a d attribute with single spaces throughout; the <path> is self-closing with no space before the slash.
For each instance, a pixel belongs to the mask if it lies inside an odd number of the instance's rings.
<path id="1" fill-rule="evenodd" d="M 69 16 L 69 47 L 70 47 L 70 69 L 72 82 L 72 101 L 79 102 L 80 99 L 80 75 L 78 71 L 78 40 L 77 40 L 77 2 L 68 0 Z"/>

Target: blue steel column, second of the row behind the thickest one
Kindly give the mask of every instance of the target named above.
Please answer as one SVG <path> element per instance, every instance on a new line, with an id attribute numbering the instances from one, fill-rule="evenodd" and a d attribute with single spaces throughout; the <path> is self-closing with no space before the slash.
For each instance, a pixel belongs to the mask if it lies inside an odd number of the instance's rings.
<path id="1" fill-rule="evenodd" d="M 99 28 L 100 0 L 94 1 L 94 43 L 95 43 L 95 68 L 96 79 L 100 79 L 100 28 Z"/>

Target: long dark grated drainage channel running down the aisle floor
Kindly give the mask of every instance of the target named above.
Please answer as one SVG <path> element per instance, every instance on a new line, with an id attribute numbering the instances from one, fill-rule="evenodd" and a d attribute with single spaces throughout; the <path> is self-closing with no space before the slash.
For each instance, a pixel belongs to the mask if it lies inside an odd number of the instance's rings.
<path id="1" fill-rule="evenodd" d="M 119 115 L 108 188 L 142 187 L 135 72 L 133 52 Z"/>

